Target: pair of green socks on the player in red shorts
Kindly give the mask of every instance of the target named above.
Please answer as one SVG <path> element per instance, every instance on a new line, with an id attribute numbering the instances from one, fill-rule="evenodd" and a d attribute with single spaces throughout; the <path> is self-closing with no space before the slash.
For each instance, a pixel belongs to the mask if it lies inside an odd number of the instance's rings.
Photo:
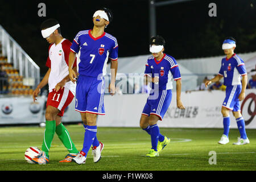
<path id="1" fill-rule="evenodd" d="M 55 121 L 46 121 L 46 130 L 44 130 L 42 151 L 46 152 L 47 157 L 49 156 L 49 148 L 51 147 L 52 139 L 54 137 L 55 132 L 58 135 L 61 142 L 67 148 L 69 153 L 79 153 L 79 151 L 75 147 L 75 144 L 72 142 L 71 137 L 69 136 L 68 130 L 65 128 L 63 123 L 60 123 L 60 125 L 56 126 Z"/>

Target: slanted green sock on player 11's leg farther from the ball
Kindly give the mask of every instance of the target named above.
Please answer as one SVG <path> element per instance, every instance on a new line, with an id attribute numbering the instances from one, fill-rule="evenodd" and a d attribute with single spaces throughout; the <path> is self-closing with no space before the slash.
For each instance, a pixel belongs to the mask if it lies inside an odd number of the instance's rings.
<path id="1" fill-rule="evenodd" d="M 63 123 L 60 123 L 60 125 L 56 126 L 55 131 L 59 139 L 61 140 L 61 142 L 69 151 L 69 153 L 71 154 L 79 153 L 79 151 L 75 147 L 75 144 L 72 142 L 71 137 L 69 136 L 68 130 L 65 128 Z"/>

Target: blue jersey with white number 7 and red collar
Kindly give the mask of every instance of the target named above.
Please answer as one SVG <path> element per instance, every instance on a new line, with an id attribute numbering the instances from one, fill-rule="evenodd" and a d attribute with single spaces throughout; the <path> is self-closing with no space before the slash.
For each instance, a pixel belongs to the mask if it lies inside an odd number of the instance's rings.
<path id="1" fill-rule="evenodd" d="M 98 77 L 106 74 L 108 59 L 118 59 L 118 44 L 114 36 L 104 32 L 94 38 L 91 30 L 80 31 L 71 45 L 71 51 L 79 53 L 79 74 Z M 80 52 L 79 52 L 80 51 Z"/>

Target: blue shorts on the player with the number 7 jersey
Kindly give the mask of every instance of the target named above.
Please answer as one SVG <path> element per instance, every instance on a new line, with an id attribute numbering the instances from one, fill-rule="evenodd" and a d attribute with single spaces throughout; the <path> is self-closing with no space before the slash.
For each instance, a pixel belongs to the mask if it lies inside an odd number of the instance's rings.
<path id="1" fill-rule="evenodd" d="M 76 85 L 76 107 L 80 113 L 105 114 L 104 77 L 87 77 L 79 75 Z"/>

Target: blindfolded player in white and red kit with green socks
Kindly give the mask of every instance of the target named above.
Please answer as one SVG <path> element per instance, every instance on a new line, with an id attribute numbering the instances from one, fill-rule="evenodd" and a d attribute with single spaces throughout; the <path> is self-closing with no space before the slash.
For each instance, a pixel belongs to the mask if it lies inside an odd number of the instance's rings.
<path id="1" fill-rule="evenodd" d="M 64 110 L 71 103 L 76 92 L 76 83 L 70 81 L 68 74 L 68 56 L 71 52 L 71 42 L 61 36 L 60 24 L 55 19 L 47 19 L 42 23 L 41 29 L 43 38 L 50 44 L 49 56 L 46 62 L 48 71 L 33 92 L 34 101 L 40 89 L 47 84 L 49 85 L 49 94 L 46 104 L 46 130 L 44 131 L 42 152 L 32 161 L 38 164 L 49 162 L 48 152 L 56 132 L 69 151 L 65 159 L 60 162 L 71 162 L 71 159 L 77 156 L 79 151 L 72 142 L 68 130 L 61 123 Z M 76 72 L 76 63 L 73 64 L 72 69 Z"/>

